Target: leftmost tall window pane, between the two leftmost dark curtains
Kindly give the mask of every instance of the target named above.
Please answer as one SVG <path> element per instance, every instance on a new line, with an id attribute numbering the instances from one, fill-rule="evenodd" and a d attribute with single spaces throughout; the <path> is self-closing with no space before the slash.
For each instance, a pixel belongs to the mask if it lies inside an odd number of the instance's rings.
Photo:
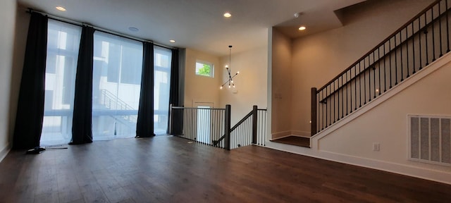
<path id="1" fill-rule="evenodd" d="M 72 136 L 73 95 L 81 27 L 49 19 L 41 144 L 66 144 Z"/>

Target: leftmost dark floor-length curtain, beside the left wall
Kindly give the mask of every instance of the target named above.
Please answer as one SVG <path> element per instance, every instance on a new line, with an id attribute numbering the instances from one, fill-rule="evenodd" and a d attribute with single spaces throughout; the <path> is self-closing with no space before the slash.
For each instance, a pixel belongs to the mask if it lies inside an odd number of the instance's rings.
<path id="1" fill-rule="evenodd" d="M 45 66 L 47 60 L 47 16 L 31 13 L 13 149 L 39 147 L 44 119 Z"/>

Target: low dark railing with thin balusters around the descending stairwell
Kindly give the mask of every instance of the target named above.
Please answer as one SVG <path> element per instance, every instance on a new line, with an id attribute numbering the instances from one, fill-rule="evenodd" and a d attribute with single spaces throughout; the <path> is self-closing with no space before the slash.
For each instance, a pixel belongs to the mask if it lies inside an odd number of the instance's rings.
<path id="1" fill-rule="evenodd" d="M 253 106 L 232 128 L 230 109 L 230 105 L 226 109 L 171 106 L 169 134 L 229 150 L 250 144 L 264 145 L 266 109 Z"/>

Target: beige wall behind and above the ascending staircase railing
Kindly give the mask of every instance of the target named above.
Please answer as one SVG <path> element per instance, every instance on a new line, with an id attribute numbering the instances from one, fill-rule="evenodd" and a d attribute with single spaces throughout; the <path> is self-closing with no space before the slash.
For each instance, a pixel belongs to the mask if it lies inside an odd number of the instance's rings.
<path id="1" fill-rule="evenodd" d="M 292 71 L 286 75 L 292 78 L 291 130 L 310 132 L 311 87 L 325 85 L 431 2 L 367 1 L 368 6 L 343 13 L 343 27 L 295 39 Z"/>

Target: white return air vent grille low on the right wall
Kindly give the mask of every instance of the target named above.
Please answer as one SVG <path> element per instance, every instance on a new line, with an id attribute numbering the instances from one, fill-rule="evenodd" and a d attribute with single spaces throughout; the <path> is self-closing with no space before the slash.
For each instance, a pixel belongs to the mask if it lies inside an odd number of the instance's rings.
<path id="1" fill-rule="evenodd" d="M 451 166 L 451 116 L 409 115 L 409 159 Z"/>

